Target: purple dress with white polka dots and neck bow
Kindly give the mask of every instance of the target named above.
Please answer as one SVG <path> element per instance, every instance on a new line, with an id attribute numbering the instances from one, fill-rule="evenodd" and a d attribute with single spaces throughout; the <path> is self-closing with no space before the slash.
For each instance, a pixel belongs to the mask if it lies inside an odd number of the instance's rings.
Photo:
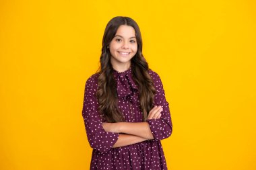
<path id="1" fill-rule="evenodd" d="M 162 81 L 154 71 L 149 70 L 148 73 L 156 88 L 154 105 L 162 105 L 163 108 L 161 118 L 147 120 L 154 139 L 117 148 L 112 147 L 117 142 L 119 134 L 106 132 L 102 128 L 102 122 L 105 120 L 97 109 L 96 90 L 99 73 L 86 81 L 82 116 L 88 141 L 93 148 L 90 169 L 167 169 L 160 140 L 172 134 L 172 121 Z M 131 67 L 121 73 L 114 70 L 113 75 L 117 81 L 118 107 L 123 112 L 125 122 L 143 122 L 143 115 L 139 109 L 138 87 L 133 81 Z"/>

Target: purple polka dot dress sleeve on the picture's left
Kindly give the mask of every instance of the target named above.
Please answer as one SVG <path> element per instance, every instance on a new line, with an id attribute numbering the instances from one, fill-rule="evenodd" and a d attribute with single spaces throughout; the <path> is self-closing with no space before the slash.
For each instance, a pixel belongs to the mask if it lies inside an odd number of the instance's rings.
<path id="1" fill-rule="evenodd" d="M 117 142 L 119 134 L 106 132 L 102 127 L 102 118 L 98 112 L 98 100 L 96 99 L 96 81 L 94 76 L 86 81 L 82 116 L 90 146 L 105 153 Z"/>

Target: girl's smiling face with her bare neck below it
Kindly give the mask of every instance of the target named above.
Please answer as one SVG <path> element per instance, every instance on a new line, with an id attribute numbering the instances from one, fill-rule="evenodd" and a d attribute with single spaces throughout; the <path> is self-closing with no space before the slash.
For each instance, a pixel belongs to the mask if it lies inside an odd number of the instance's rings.
<path id="1" fill-rule="evenodd" d="M 111 64 L 114 69 L 118 67 L 129 68 L 131 58 L 137 52 L 137 40 L 135 38 L 135 30 L 131 26 L 119 26 L 115 37 L 109 44 L 111 54 Z"/>

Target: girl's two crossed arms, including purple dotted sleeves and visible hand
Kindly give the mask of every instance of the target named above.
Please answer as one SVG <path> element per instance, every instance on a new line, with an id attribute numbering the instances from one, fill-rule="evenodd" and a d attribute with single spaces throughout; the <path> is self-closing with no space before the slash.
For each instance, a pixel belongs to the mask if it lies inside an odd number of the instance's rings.
<path id="1" fill-rule="evenodd" d="M 97 75 L 86 81 L 84 107 L 82 116 L 86 126 L 86 134 L 90 146 L 101 153 L 110 148 L 127 146 L 144 140 L 162 140 L 172 134 L 172 121 L 168 102 L 160 77 L 151 71 L 156 87 L 155 104 L 148 114 L 146 122 L 102 123 L 98 113 L 96 98 Z"/>

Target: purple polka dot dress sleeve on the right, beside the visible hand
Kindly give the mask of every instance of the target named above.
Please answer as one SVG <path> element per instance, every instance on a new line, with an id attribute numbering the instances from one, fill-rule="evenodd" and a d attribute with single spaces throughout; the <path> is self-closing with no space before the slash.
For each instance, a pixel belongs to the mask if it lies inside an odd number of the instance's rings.
<path id="1" fill-rule="evenodd" d="M 154 97 L 154 105 L 162 105 L 161 118 L 149 119 L 146 122 L 150 124 L 150 130 L 155 139 L 162 140 L 168 138 L 172 134 L 172 120 L 170 117 L 169 103 L 166 101 L 162 81 L 157 73 L 151 71 L 150 73 L 154 86 L 156 88 L 156 95 Z"/>

